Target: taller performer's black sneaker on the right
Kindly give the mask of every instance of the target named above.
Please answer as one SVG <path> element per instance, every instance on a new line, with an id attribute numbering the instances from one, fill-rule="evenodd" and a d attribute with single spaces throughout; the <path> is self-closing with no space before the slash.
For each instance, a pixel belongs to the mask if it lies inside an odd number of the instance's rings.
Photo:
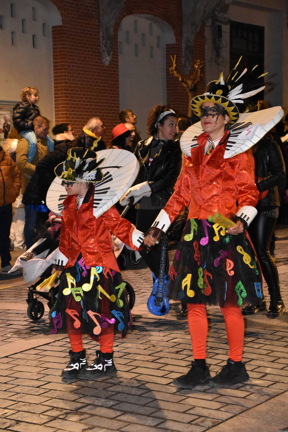
<path id="1" fill-rule="evenodd" d="M 235 364 L 233 360 L 228 359 L 227 365 L 209 381 L 213 387 L 230 387 L 233 384 L 239 384 L 249 380 L 244 363 L 241 367 Z"/>

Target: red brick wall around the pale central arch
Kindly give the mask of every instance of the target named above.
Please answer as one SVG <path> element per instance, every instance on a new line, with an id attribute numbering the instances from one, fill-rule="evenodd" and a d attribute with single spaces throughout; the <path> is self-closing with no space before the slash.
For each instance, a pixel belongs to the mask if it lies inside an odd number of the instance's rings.
<path id="1" fill-rule="evenodd" d="M 110 131 L 118 123 L 118 50 L 117 32 L 127 15 L 146 14 L 167 22 L 174 31 L 176 43 L 167 45 L 167 103 L 179 113 L 186 113 L 188 96 L 179 81 L 168 72 L 170 54 L 177 55 L 177 70 L 181 67 L 181 1 L 180 0 L 127 0 L 114 25 L 112 59 L 104 66 L 100 57 L 99 10 L 95 0 L 52 0 L 61 13 L 63 25 L 55 26 L 53 38 L 55 123 L 69 121 L 76 130 L 85 122 L 100 116 Z M 204 28 L 196 35 L 195 58 L 204 61 Z M 199 86 L 199 91 L 204 85 Z M 106 141 L 109 133 L 107 133 Z M 104 137 L 105 139 L 105 137 Z"/>

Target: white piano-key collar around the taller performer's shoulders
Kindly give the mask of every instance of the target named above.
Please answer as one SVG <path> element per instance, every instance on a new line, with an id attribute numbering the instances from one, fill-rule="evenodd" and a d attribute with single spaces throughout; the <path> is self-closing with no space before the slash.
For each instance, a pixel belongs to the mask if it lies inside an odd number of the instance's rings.
<path id="1" fill-rule="evenodd" d="M 283 114 L 283 109 L 280 106 L 241 114 L 237 123 L 227 127 L 230 134 L 226 143 L 224 159 L 229 159 L 250 149 L 282 119 Z M 203 133 L 203 129 L 200 121 L 183 132 L 180 146 L 186 156 L 191 156 L 191 149 L 199 146 L 197 137 L 201 133 Z"/>

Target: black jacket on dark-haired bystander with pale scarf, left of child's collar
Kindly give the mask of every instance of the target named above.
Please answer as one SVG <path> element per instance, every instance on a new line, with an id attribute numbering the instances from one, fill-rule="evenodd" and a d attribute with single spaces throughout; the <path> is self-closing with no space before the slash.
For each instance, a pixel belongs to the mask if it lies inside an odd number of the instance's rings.
<path id="1" fill-rule="evenodd" d="M 47 191 L 56 177 L 54 168 L 66 159 L 67 150 L 70 148 L 71 141 L 69 140 L 55 141 L 54 150 L 44 156 L 36 165 L 35 173 L 32 175 L 23 194 L 23 204 L 46 203 Z"/>

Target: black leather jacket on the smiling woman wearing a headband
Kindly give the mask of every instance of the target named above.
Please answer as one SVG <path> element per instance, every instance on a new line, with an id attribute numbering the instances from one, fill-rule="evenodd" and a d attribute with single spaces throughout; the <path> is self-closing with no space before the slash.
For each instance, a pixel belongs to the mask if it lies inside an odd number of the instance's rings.
<path id="1" fill-rule="evenodd" d="M 176 183 L 182 165 L 182 152 L 172 140 L 167 141 L 149 166 L 152 137 L 139 141 L 134 152 L 140 169 L 135 184 L 148 181 L 152 194 L 152 206 L 165 206 Z"/>

